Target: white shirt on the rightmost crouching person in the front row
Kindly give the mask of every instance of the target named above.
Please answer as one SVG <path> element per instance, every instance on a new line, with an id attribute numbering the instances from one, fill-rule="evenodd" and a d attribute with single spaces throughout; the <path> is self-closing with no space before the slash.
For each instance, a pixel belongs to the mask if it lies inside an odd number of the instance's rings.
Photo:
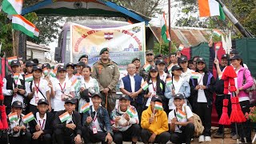
<path id="1" fill-rule="evenodd" d="M 186 107 L 186 112 L 184 110 L 184 106 L 182 106 L 182 111 L 186 114 L 186 117 L 185 118 L 178 118 L 177 117 L 177 114 L 180 114 L 178 111 L 176 111 L 176 108 L 174 109 L 175 112 L 176 112 L 176 118 L 177 118 L 177 121 L 178 122 L 187 122 L 187 119 L 188 118 L 191 118 L 193 117 L 193 113 L 192 111 L 190 110 L 190 107 L 189 106 L 185 106 Z M 170 113 L 168 114 L 168 123 L 171 123 L 171 120 L 173 118 L 175 118 L 175 114 L 174 114 L 174 110 L 171 110 Z M 181 115 L 181 114 L 180 114 Z M 181 126 L 180 126 L 181 127 Z M 178 126 L 175 125 L 175 131 L 174 132 L 178 132 L 178 133 L 182 133 L 181 130 L 179 130 Z"/>

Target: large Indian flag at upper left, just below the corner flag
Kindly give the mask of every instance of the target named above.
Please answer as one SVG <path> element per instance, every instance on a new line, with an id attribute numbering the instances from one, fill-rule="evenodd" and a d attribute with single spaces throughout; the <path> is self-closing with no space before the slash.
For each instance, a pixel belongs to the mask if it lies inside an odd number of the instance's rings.
<path id="1" fill-rule="evenodd" d="M 26 20 L 26 18 L 23 18 L 22 15 L 19 15 L 19 14 L 13 15 L 12 23 L 13 23 L 14 30 L 20 30 L 24 34 L 30 36 L 31 38 L 34 38 L 34 30 L 35 30 L 34 24 Z"/>

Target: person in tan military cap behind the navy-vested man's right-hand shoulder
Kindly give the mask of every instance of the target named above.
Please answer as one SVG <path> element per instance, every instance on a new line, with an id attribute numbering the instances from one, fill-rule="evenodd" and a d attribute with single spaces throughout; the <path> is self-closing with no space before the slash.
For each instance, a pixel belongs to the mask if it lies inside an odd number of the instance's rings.
<path id="1" fill-rule="evenodd" d="M 148 64 L 148 63 L 150 64 L 150 66 L 155 66 L 153 50 L 146 50 L 146 64 Z M 149 76 L 149 71 L 148 70 L 146 71 L 142 67 L 141 70 L 139 70 L 139 75 L 142 76 L 142 78 L 144 78 L 144 80 L 146 81 Z"/>

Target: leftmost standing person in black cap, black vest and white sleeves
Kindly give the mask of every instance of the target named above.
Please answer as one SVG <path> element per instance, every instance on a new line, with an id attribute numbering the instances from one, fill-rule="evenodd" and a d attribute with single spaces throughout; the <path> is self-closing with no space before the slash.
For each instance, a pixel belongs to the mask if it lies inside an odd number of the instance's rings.
<path id="1" fill-rule="evenodd" d="M 14 101 L 22 102 L 23 108 L 26 108 L 27 98 L 25 90 L 24 75 L 20 74 L 21 64 L 17 59 L 10 62 L 12 74 L 8 74 L 6 78 L 3 78 L 2 93 L 5 97 L 4 105 L 6 105 L 6 114 L 10 113 L 11 104 Z M 23 105 L 25 102 L 25 105 Z M 26 110 L 23 111 L 26 113 Z"/>

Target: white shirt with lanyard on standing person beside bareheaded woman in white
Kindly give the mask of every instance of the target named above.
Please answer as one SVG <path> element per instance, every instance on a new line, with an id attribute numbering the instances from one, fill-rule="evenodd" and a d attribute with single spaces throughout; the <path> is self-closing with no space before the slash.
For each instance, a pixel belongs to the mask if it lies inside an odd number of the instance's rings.
<path id="1" fill-rule="evenodd" d="M 69 95 L 70 92 L 74 92 L 74 86 L 71 86 L 71 84 L 70 80 L 65 80 L 62 84 L 59 81 L 53 83 L 55 96 L 51 100 L 51 106 L 54 111 L 65 110 L 65 102 L 62 101 L 62 89 L 65 95 Z"/>

